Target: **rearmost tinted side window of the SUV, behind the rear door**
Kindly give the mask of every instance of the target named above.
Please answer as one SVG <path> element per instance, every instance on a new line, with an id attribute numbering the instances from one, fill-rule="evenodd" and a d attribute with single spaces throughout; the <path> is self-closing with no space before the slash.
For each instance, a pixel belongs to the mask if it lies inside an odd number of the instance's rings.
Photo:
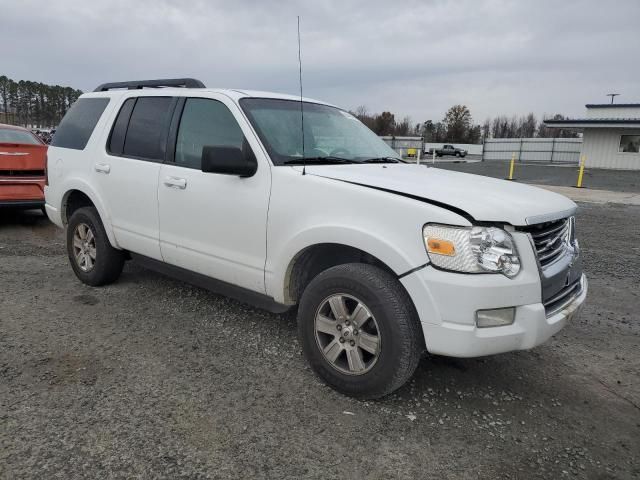
<path id="1" fill-rule="evenodd" d="M 60 122 L 51 145 L 84 150 L 108 104 L 108 98 L 78 99 Z"/>

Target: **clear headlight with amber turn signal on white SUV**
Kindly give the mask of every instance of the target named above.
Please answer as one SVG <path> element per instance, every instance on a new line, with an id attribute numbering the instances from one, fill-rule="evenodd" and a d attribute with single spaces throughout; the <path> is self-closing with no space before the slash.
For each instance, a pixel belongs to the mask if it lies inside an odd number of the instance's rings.
<path id="1" fill-rule="evenodd" d="M 456 272 L 502 273 L 514 277 L 520 257 L 511 235 L 496 227 L 425 225 L 424 244 L 431 262 Z"/>

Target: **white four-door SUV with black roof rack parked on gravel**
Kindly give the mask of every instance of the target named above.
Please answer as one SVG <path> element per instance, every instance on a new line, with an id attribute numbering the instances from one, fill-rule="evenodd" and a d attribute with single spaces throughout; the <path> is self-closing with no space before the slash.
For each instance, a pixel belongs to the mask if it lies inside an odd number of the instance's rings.
<path id="1" fill-rule="evenodd" d="M 323 102 L 193 79 L 82 95 L 49 148 L 46 209 L 86 284 L 132 258 L 298 305 L 313 369 L 361 398 L 403 385 L 425 350 L 535 347 L 587 292 L 571 200 L 405 164 Z"/>

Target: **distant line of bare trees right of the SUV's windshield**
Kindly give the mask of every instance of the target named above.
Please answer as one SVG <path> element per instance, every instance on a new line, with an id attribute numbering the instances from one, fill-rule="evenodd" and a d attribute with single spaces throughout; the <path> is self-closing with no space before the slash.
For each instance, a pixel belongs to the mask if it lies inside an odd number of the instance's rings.
<path id="1" fill-rule="evenodd" d="M 466 105 L 454 105 L 441 121 L 426 120 L 414 124 L 410 117 L 397 121 L 391 112 L 371 114 L 366 107 L 360 106 L 352 112 L 361 122 L 378 135 L 421 136 L 428 143 L 481 143 L 486 138 L 575 138 L 576 132 L 559 128 L 549 128 L 538 121 L 533 113 L 508 117 L 500 115 L 487 118 L 484 123 L 476 124 Z M 553 120 L 565 117 L 556 114 Z"/>

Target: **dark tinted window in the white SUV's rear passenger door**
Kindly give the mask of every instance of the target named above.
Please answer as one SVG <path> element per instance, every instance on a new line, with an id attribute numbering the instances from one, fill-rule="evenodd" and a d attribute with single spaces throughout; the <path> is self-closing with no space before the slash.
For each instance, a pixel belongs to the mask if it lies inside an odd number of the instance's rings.
<path id="1" fill-rule="evenodd" d="M 171 97 L 138 97 L 129 119 L 122 154 L 163 161 L 173 106 Z"/>

